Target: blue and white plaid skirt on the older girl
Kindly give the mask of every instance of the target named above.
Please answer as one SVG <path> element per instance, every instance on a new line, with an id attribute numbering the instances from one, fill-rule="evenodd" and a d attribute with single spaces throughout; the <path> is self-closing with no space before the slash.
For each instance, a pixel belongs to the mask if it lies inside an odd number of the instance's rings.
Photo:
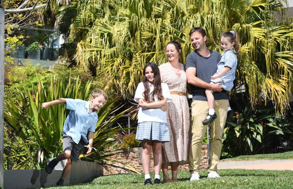
<path id="1" fill-rule="evenodd" d="M 136 131 L 136 140 L 158 140 L 164 142 L 170 141 L 169 129 L 167 123 L 154 121 L 145 121 L 138 123 Z"/>

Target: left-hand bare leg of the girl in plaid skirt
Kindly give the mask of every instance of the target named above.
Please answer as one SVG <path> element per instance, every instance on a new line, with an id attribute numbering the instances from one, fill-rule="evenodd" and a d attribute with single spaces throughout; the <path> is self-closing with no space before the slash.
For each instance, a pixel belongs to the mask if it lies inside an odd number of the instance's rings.
<path id="1" fill-rule="evenodd" d="M 144 168 L 144 174 L 149 174 L 149 167 L 151 166 L 151 140 L 142 141 L 142 167 Z"/>

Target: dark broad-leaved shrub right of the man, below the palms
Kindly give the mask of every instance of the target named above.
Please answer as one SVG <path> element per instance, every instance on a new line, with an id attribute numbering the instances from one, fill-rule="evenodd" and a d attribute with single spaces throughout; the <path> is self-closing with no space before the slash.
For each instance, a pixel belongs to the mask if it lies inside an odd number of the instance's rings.
<path id="1" fill-rule="evenodd" d="M 239 95 L 231 103 L 236 116 L 226 122 L 221 158 L 276 151 L 285 142 L 282 136 L 292 133 L 287 118 L 276 113 L 270 100 L 252 107 L 247 97 Z"/>

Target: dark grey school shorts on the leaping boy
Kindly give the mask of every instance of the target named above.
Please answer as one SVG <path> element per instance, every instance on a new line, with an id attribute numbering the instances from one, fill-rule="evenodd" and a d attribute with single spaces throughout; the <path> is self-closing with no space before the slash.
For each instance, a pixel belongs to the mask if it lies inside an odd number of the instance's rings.
<path id="1" fill-rule="evenodd" d="M 65 150 L 70 150 L 71 155 L 69 158 L 72 159 L 72 161 L 77 162 L 82 149 L 84 149 L 84 145 L 86 145 L 86 142 L 84 142 L 84 139 L 82 137 L 79 140 L 79 143 L 76 144 L 72 140 L 71 136 L 63 135 L 63 152 Z"/>

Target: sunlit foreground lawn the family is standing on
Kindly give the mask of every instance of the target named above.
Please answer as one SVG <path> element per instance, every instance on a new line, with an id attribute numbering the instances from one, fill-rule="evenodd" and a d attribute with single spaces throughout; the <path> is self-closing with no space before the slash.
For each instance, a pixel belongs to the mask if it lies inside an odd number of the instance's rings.
<path id="1" fill-rule="evenodd" d="M 221 178 L 207 178 L 207 171 L 200 171 L 199 181 L 189 181 L 189 171 L 178 171 L 178 180 L 176 183 L 165 183 L 159 185 L 144 186 L 144 175 L 134 173 L 115 174 L 100 176 L 88 183 L 75 184 L 58 187 L 58 189 L 72 188 L 293 188 L 293 171 L 272 171 L 272 170 L 245 170 L 245 169 L 221 169 L 218 171 Z M 169 172 L 171 174 L 171 172 Z M 154 173 L 151 173 L 154 178 Z M 162 178 L 162 173 L 161 173 Z M 57 187 L 51 187 L 57 188 Z"/>

